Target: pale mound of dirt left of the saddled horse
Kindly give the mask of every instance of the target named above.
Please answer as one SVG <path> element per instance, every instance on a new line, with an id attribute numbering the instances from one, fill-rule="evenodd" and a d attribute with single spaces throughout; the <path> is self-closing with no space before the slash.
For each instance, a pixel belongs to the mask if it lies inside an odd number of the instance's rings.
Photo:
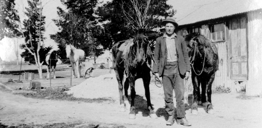
<path id="1" fill-rule="evenodd" d="M 112 98 L 118 100 L 118 83 L 116 74 L 90 77 L 79 85 L 72 86 L 68 94 L 76 98 Z"/>

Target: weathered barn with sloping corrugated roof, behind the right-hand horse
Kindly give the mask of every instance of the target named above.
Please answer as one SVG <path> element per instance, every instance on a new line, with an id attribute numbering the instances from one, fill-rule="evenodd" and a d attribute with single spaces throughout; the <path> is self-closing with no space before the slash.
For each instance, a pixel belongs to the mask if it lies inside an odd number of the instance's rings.
<path id="1" fill-rule="evenodd" d="M 219 71 L 213 86 L 262 94 L 262 4 L 226 0 L 203 4 L 176 19 L 177 35 L 200 32 L 218 47 Z"/>

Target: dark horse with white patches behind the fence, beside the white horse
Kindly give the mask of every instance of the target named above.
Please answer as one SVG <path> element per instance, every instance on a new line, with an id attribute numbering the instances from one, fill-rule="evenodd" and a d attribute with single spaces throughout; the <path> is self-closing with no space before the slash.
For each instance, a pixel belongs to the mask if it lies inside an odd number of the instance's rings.
<path id="1" fill-rule="evenodd" d="M 49 79 L 49 73 L 51 73 L 51 69 L 52 67 L 54 67 L 54 74 L 53 74 L 53 78 L 56 78 L 55 75 L 55 70 L 56 70 L 56 62 L 58 61 L 57 59 L 57 51 L 52 51 L 52 53 L 47 53 L 45 55 L 45 61 L 42 65 L 46 65 L 47 67 L 47 79 Z"/>

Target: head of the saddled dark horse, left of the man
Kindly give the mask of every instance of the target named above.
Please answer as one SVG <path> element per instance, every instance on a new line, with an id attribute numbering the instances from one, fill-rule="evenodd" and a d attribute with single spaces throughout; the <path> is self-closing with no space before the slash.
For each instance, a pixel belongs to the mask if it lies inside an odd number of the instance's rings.
<path id="1" fill-rule="evenodd" d="M 132 30 L 134 31 L 134 51 L 136 53 L 136 61 L 138 64 L 144 64 L 146 61 L 146 50 L 148 45 L 148 37 L 146 32 L 148 30 L 148 24 L 145 27 L 136 29 L 133 26 Z"/>

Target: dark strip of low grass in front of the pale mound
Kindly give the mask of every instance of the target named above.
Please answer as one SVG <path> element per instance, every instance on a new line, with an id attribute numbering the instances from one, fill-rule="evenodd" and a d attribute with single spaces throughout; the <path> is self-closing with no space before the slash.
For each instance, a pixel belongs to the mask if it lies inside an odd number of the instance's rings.
<path id="1" fill-rule="evenodd" d="M 39 99 L 48 99 L 48 100 L 67 100 L 67 101 L 78 101 L 78 102 L 114 102 L 115 100 L 111 98 L 75 98 L 73 97 L 73 94 L 68 94 L 65 91 L 69 91 L 70 89 L 68 87 L 64 88 L 57 88 L 57 89 L 32 89 L 33 92 L 23 92 L 23 93 L 15 93 L 20 94 L 28 98 L 39 98 Z"/>

